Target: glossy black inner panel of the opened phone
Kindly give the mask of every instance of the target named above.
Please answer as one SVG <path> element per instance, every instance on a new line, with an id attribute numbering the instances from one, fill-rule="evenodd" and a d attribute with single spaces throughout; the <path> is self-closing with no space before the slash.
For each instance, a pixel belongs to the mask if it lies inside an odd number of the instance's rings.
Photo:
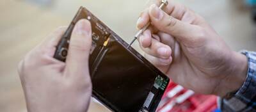
<path id="1" fill-rule="evenodd" d="M 140 110 L 157 74 L 115 40 L 109 42 L 107 49 L 92 76 L 94 90 L 117 109 Z"/>

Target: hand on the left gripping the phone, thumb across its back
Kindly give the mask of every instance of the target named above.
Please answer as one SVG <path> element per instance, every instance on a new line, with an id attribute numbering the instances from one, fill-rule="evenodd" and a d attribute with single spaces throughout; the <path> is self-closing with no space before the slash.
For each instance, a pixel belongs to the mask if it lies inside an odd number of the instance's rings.
<path id="1" fill-rule="evenodd" d="M 66 63 L 53 58 L 67 28 L 58 28 L 19 63 L 19 75 L 28 111 L 84 112 L 92 95 L 88 58 L 92 29 L 88 20 L 77 22 Z"/>

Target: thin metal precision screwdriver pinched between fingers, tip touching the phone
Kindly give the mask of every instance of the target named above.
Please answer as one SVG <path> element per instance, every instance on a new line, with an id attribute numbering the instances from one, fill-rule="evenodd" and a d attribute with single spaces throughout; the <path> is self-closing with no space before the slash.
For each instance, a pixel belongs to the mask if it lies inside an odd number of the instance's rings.
<path id="1" fill-rule="evenodd" d="M 168 5 L 168 1 L 167 0 L 162 0 L 161 1 L 161 5 L 159 6 L 159 8 L 161 10 L 163 10 L 164 6 Z M 150 22 L 148 22 L 143 28 L 141 28 L 136 35 L 134 36 L 132 42 L 127 46 L 127 48 L 131 47 L 131 45 L 134 43 L 134 41 L 150 26 Z"/>

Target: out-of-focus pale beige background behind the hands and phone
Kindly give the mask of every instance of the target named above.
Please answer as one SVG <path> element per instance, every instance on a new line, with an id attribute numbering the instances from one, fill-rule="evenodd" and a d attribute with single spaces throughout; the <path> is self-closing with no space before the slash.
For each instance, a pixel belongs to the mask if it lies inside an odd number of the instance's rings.
<path id="1" fill-rule="evenodd" d="M 148 0 L 1 0 L 0 1 L 0 111 L 25 112 L 17 63 L 58 26 L 68 26 L 79 6 L 131 42 L 136 20 Z M 253 1 L 177 0 L 212 25 L 228 45 L 239 51 L 256 51 Z M 133 47 L 138 49 L 138 42 Z M 108 111 L 92 101 L 89 111 Z"/>

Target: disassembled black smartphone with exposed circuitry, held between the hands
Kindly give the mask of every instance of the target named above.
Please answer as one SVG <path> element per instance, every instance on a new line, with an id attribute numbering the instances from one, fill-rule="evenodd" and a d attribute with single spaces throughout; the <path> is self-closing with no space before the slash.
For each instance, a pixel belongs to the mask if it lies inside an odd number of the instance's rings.
<path id="1" fill-rule="evenodd" d="M 54 58 L 66 60 L 70 35 L 80 19 L 92 24 L 89 67 L 93 97 L 111 111 L 156 111 L 169 78 L 86 8 L 79 8 L 56 47 Z"/>

